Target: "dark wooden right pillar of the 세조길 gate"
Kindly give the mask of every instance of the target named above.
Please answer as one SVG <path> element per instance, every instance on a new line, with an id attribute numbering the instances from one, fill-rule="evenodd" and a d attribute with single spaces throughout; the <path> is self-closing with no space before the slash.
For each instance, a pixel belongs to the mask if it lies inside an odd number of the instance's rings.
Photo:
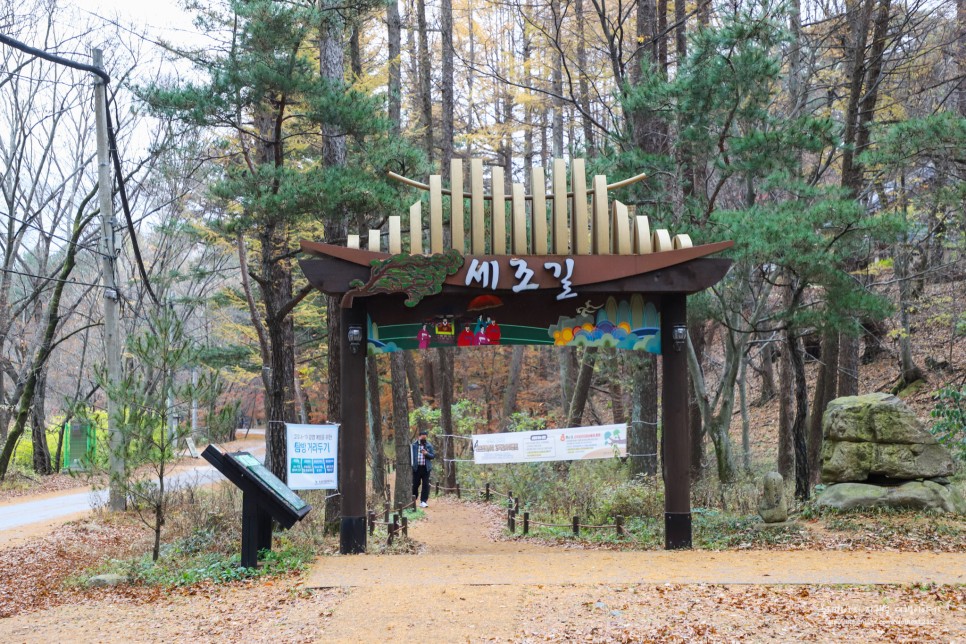
<path id="1" fill-rule="evenodd" d="M 691 478 L 688 453 L 687 296 L 670 293 L 661 300 L 661 363 L 664 384 L 664 547 L 691 547 Z M 677 336 L 677 339 L 675 339 Z"/>

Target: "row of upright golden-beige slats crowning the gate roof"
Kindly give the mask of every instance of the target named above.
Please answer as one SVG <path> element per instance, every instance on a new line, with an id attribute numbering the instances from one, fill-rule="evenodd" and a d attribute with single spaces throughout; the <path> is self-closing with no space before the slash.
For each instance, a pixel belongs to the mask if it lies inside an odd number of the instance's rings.
<path id="1" fill-rule="evenodd" d="M 422 201 L 417 201 L 409 209 L 408 249 L 404 249 L 403 222 L 399 215 L 389 217 L 388 248 L 382 248 L 382 231 L 370 230 L 367 249 L 388 250 L 391 255 L 443 253 L 446 250 L 443 246 L 444 196 L 450 197 L 451 248 L 460 254 L 644 255 L 691 248 L 688 235 L 672 236 L 665 229 L 652 232 L 646 216 L 635 216 L 632 208 L 619 201 L 609 203 L 608 191 L 641 181 L 646 178 L 645 174 L 611 184 L 604 175 L 596 175 L 588 187 L 585 167 L 583 159 L 571 161 L 568 185 L 566 161 L 555 159 L 550 192 L 546 190 L 543 168 L 533 167 L 529 195 L 521 183 L 513 183 L 510 194 L 506 194 L 501 166 L 490 168 L 490 193 L 487 194 L 483 160 L 476 158 L 469 160 L 468 177 L 463 159 L 453 159 L 449 188 L 443 188 L 440 175 L 430 176 L 429 183 L 425 184 L 390 172 L 391 178 L 429 192 L 428 238 L 424 240 L 426 222 Z M 467 179 L 469 191 L 465 185 Z M 424 242 L 428 242 L 428 247 Z M 360 235 L 349 235 L 347 246 L 361 248 Z"/>

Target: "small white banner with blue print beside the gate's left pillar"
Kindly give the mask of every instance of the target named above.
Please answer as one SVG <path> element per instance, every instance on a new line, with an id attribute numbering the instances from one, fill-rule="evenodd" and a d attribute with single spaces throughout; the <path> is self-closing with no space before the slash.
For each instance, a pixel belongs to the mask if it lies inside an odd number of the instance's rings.
<path id="1" fill-rule="evenodd" d="M 339 488 L 339 426 L 285 424 L 288 486 L 293 490 Z"/>

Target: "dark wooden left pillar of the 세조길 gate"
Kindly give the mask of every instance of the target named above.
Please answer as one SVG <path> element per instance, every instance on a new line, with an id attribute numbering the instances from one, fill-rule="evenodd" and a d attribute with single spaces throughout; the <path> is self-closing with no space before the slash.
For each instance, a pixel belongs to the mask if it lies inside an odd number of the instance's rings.
<path id="1" fill-rule="evenodd" d="M 361 299 L 361 298 L 360 298 Z M 340 309 L 342 315 L 342 452 L 339 487 L 342 524 L 339 551 L 366 551 L 366 310 L 357 303 Z M 358 330 L 358 333 L 355 333 Z M 355 333 L 355 337 L 352 337 Z"/>

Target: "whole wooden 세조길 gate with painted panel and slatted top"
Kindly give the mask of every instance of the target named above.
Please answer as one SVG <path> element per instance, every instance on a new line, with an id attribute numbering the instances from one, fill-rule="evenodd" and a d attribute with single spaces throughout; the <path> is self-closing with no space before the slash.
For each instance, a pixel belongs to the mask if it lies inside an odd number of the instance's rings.
<path id="1" fill-rule="evenodd" d="M 484 190 L 479 159 L 470 161 L 469 192 L 459 159 L 447 189 L 438 175 L 428 184 L 395 177 L 429 193 L 428 226 L 421 201 L 410 209 L 408 249 L 398 215 L 387 232 L 368 231 L 366 250 L 358 234 L 346 247 L 301 244 L 310 256 L 300 261 L 309 282 L 341 303 L 343 553 L 366 548 L 367 353 L 464 346 L 469 333 L 472 344 L 661 354 L 665 547 L 691 546 L 686 298 L 724 277 L 731 261 L 708 255 L 732 242 L 693 246 L 686 234 L 652 232 L 647 217 L 608 203 L 608 190 L 643 175 L 609 185 L 598 175 L 588 189 L 583 160 L 572 161 L 568 185 L 558 159 L 546 194 L 543 169 L 531 172 L 533 194 L 513 184 L 509 199 L 500 167 L 491 168 L 490 192 Z M 497 330 L 487 336 L 482 325 Z"/>

